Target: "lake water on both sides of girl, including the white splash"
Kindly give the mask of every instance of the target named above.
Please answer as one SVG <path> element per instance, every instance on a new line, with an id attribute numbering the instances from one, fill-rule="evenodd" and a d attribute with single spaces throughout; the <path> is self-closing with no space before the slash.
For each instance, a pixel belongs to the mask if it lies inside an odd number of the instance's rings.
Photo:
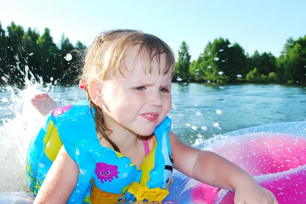
<path id="1" fill-rule="evenodd" d="M 0 88 L 0 192 L 27 191 L 24 160 L 41 116 L 30 104 L 39 92 L 58 105 L 86 99 L 78 86 L 27 82 L 29 88 Z M 172 84 L 172 131 L 185 143 L 242 128 L 306 120 L 306 87 L 286 85 Z"/>

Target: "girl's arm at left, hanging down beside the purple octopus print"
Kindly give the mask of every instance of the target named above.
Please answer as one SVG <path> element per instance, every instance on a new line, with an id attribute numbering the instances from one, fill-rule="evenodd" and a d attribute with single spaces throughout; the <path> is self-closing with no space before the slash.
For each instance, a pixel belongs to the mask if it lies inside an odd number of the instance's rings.
<path id="1" fill-rule="evenodd" d="M 67 203 L 75 185 L 77 185 L 78 175 L 79 166 L 70 158 L 63 145 L 33 204 Z"/>

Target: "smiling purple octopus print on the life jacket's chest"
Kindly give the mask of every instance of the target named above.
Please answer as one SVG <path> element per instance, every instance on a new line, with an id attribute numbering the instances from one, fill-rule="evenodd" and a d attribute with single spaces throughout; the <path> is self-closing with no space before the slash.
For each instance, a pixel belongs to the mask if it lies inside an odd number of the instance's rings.
<path id="1" fill-rule="evenodd" d="M 96 167 L 94 169 L 95 174 L 97 175 L 98 179 L 104 183 L 109 181 L 112 182 L 115 178 L 118 179 L 118 166 L 107 164 L 104 162 L 96 163 Z M 113 178 L 115 177 L 115 178 Z"/>

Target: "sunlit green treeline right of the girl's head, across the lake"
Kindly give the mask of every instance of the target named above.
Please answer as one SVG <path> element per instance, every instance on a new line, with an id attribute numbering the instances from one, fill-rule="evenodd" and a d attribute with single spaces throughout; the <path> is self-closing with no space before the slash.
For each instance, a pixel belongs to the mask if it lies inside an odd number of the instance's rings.
<path id="1" fill-rule="evenodd" d="M 278 58 L 257 50 L 249 56 L 241 45 L 223 38 L 209 42 L 196 61 L 190 58 L 183 41 L 173 81 L 306 83 L 306 35 L 290 37 Z"/>

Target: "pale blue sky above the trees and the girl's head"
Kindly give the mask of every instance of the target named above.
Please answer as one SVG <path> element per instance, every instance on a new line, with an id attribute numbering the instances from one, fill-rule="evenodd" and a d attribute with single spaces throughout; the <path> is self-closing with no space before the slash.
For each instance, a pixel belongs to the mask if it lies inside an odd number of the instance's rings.
<path id="1" fill-rule="evenodd" d="M 3 27 L 14 21 L 40 34 L 48 27 L 56 43 L 63 32 L 73 44 L 90 45 L 101 31 L 130 28 L 160 37 L 176 56 L 186 41 L 192 60 L 219 37 L 239 43 L 249 54 L 257 49 L 279 56 L 286 39 L 306 35 L 305 0 L 11 0 L 1 7 Z"/>

